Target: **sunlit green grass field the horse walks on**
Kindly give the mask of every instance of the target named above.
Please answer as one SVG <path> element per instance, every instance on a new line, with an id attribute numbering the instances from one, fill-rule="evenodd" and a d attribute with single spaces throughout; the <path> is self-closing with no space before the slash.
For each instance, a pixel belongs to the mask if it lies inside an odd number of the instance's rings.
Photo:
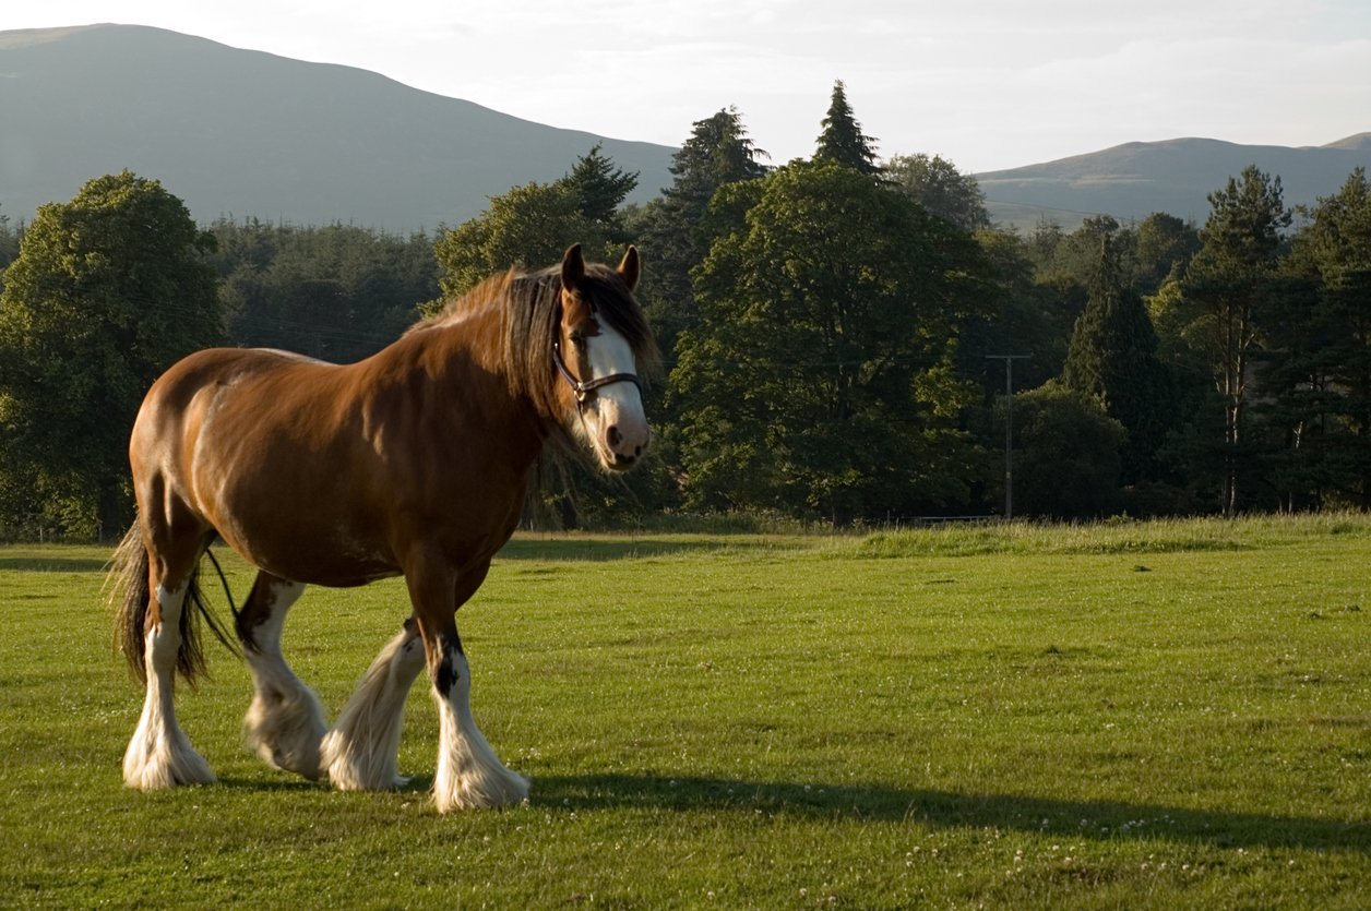
<path id="1" fill-rule="evenodd" d="M 0 548 L 5 906 L 1371 906 L 1368 518 L 517 538 L 459 619 L 532 797 L 446 816 L 422 678 L 410 789 L 336 793 L 222 649 L 219 782 L 126 790 L 104 559 Z M 287 656 L 336 712 L 406 614 L 313 589 Z"/>

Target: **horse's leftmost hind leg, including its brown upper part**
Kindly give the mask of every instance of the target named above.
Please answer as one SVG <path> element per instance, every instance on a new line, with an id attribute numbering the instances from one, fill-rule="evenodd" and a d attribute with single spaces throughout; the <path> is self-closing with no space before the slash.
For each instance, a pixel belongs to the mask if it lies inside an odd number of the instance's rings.
<path id="1" fill-rule="evenodd" d="M 144 547 L 148 537 L 144 536 Z M 123 781 L 138 790 L 214 781 L 210 764 L 191 747 L 175 719 L 174 681 L 181 651 L 181 612 L 200 559 L 202 538 L 182 537 L 180 553 L 155 548 L 148 558 L 148 611 L 143 622 L 147 697 L 138 727 L 123 753 Z"/>

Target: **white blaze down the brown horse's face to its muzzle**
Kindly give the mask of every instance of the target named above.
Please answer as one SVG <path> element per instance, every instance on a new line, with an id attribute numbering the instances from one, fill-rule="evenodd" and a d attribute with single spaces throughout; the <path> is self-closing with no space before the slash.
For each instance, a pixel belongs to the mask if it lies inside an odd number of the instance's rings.
<path id="1" fill-rule="evenodd" d="M 599 334 L 585 340 L 585 355 L 590 375 L 583 381 L 616 373 L 638 374 L 632 347 L 603 322 Z M 651 432 L 636 384 L 625 381 L 600 386 L 591 395 L 583 419 L 591 445 L 606 467 L 627 469 L 647 451 Z"/>

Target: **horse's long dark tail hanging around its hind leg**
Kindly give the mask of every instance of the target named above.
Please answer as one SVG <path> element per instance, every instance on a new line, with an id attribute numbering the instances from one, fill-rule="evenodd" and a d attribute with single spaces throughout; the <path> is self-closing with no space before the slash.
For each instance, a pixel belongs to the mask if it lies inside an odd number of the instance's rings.
<path id="1" fill-rule="evenodd" d="M 185 601 L 177 623 L 181 645 L 177 649 L 175 669 L 191 686 L 199 682 L 208 667 L 200 637 L 199 621 L 202 616 L 214 637 L 223 642 L 230 652 L 239 653 L 223 625 L 210 612 L 210 607 L 200 593 L 199 575 L 200 562 L 196 560 L 191 577 L 186 579 Z M 222 570 L 219 575 L 223 575 Z M 106 589 L 110 593 L 110 601 L 117 607 L 114 618 L 115 647 L 123 652 L 123 658 L 129 662 L 129 667 L 138 681 L 147 684 L 147 622 L 152 593 L 148 590 L 148 548 L 143 544 L 143 529 L 138 527 L 137 522 L 123 536 L 110 559 Z M 225 590 L 228 590 L 228 582 L 225 582 Z M 237 614 L 236 610 L 234 614 Z"/>

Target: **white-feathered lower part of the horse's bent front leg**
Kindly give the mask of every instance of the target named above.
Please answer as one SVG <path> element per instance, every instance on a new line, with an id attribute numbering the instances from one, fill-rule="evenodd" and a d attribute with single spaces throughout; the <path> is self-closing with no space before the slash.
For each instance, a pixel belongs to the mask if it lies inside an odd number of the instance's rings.
<path id="1" fill-rule="evenodd" d="M 385 644 L 362 675 L 337 723 L 324 737 L 322 766 L 340 790 L 398 788 L 404 699 L 424 669 L 424 642 L 414 618 Z"/>

